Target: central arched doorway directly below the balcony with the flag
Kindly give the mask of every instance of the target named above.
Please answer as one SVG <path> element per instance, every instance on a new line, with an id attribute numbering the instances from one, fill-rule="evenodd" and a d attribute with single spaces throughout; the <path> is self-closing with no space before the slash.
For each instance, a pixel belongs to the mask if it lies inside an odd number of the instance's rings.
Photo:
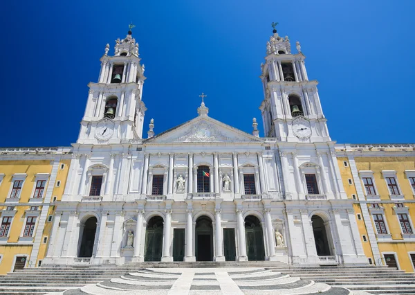
<path id="1" fill-rule="evenodd" d="M 208 216 L 196 220 L 196 261 L 213 260 L 213 227 Z"/>

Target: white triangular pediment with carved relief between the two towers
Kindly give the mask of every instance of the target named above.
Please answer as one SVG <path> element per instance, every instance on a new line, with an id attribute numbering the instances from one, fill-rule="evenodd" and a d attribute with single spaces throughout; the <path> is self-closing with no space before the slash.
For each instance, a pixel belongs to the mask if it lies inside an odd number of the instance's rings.
<path id="1" fill-rule="evenodd" d="M 208 116 L 199 116 L 149 138 L 147 143 L 243 143 L 262 142 L 261 138 L 221 123 Z"/>

